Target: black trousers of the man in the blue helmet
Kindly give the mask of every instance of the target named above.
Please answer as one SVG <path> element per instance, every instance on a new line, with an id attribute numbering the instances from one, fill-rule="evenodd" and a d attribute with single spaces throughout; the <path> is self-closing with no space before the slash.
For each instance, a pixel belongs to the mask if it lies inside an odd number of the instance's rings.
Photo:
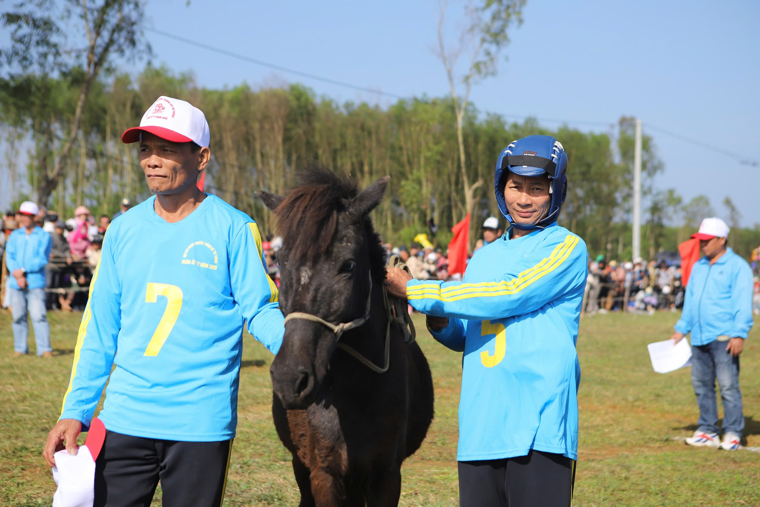
<path id="1" fill-rule="evenodd" d="M 460 507 L 570 507 L 575 461 L 530 450 L 527 456 L 459 461 Z"/>

